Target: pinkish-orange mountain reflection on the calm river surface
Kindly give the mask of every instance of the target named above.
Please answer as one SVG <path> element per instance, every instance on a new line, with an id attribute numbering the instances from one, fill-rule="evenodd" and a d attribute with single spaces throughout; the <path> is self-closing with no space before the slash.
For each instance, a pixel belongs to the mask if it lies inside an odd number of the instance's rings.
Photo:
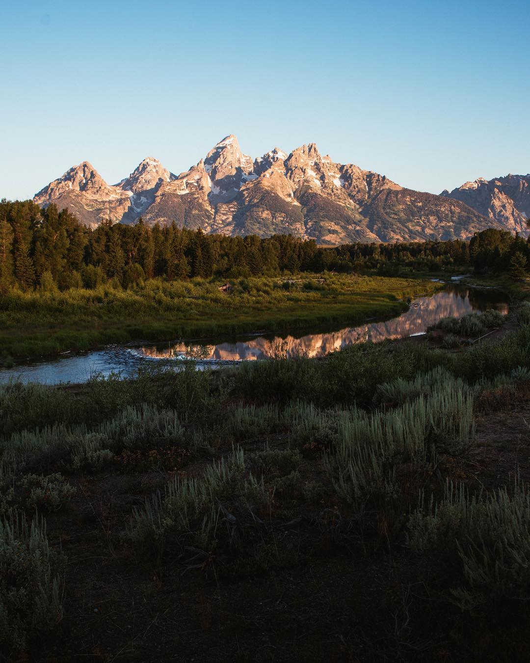
<path id="1" fill-rule="evenodd" d="M 323 357 L 362 341 L 378 342 L 425 333 L 429 326 L 441 318 L 462 318 L 472 311 L 486 308 L 496 308 L 504 314 L 508 311 L 507 304 L 496 302 L 493 295 L 465 288 L 449 288 L 433 296 L 414 300 L 409 310 L 386 322 L 373 322 L 328 333 L 311 333 L 302 337 L 259 336 L 211 345 L 174 343 L 165 349 L 152 346 L 141 347 L 136 351 L 152 359 L 197 357 L 203 361 L 244 361 L 295 355 Z"/>

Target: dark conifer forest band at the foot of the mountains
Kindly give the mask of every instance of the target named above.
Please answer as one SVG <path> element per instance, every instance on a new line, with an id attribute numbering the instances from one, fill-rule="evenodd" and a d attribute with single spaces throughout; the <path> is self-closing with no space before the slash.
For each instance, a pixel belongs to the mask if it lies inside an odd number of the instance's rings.
<path id="1" fill-rule="evenodd" d="M 205 235 L 175 223 L 149 227 L 104 221 L 96 229 L 68 210 L 46 210 L 30 200 L 0 202 L 0 284 L 95 288 L 113 280 L 127 288 L 149 278 L 240 278 L 303 272 L 439 271 L 447 266 L 476 272 L 511 271 L 524 278 L 530 243 L 507 231 L 488 229 L 469 242 L 354 243 L 318 247 L 292 235 Z"/>

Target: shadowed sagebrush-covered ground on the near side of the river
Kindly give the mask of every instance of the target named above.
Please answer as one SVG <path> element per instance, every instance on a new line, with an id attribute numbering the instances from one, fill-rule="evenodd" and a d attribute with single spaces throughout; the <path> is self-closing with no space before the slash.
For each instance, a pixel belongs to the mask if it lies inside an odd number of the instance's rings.
<path id="1" fill-rule="evenodd" d="M 1 386 L 7 659 L 524 660 L 516 316 L 456 352 Z"/>

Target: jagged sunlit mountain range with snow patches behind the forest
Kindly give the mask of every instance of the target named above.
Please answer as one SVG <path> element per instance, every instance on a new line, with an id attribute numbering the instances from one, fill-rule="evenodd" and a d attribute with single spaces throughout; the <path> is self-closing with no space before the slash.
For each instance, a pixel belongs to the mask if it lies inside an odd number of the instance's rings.
<path id="1" fill-rule="evenodd" d="M 486 227 L 523 231 L 530 175 L 468 182 L 437 196 L 322 156 L 315 143 L 287 154 L 275 147 L 252 160 L 227 136 L 178 175 L 144 159 L 114 185 L 84 161 L 50 182 L 34 202 L 68 208 L 96 227 L 175 223 L 207 233 L 291 233 L 319 245 L 362 241 L 468 239 Z"/>

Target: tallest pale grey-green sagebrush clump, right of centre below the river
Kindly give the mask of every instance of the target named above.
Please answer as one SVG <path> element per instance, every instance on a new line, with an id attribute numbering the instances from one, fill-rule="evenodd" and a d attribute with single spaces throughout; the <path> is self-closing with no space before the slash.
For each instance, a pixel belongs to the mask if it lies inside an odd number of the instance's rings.
<path id="1" fill-rule="evenodd" d="M 337 446 L 325 457 L 337 494 L 358 517 L 370 499 L 388 501 L 397 493 L 398 469 L 429 470 L 438 452 L 459 453 L 474 438 L 472 390 L 445 370 L 380 392 L 401 404 L 342 418 Z"/>

